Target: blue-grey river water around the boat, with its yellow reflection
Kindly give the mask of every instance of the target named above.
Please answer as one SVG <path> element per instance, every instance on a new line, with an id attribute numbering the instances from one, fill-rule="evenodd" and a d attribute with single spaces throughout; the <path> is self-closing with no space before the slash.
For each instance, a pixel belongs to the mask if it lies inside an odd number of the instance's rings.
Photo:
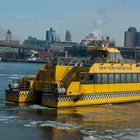
<path id="1" fill-rule="evenodd" d="M 42 64 L 0 63 L 0 140 L 139 140 L 140 102 L 52 109 L 5 101 L 9 82 Z"/>

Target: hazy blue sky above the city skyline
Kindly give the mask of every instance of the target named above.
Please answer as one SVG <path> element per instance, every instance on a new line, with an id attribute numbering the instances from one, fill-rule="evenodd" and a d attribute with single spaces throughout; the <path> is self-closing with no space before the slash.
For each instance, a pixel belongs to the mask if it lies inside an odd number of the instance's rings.
<path id="1" fill-rule="evenodd" d="M 124 31 L 140 31 L 140 0 L 1 0 L 0 28 L 20 40 L 45 39 L 51 27 L 64 41 L 66 30 L 80 42 L 89 33 L 110 36 L 123 46 Z"/>

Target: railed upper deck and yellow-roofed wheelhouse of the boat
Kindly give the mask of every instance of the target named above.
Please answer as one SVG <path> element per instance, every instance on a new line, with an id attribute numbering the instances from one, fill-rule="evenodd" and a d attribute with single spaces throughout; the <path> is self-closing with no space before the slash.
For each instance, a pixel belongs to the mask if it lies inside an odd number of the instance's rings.
<path id="1" fill-rule="evenodd" d="M 91 66 L 94 63 L 135 64 L 135 60 L 123 59 L 120 51 L 115 47 L 90 46 L 88 57 L 56 57 L 50 60 L 52 65 Z"/>

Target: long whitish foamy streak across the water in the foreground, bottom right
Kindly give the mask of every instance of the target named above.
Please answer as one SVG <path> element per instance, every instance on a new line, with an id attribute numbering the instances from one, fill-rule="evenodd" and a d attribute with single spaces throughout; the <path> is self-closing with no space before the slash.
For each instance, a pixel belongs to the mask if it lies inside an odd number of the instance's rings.
<path id="1" fill-rule="evenodd" d="M 32 121 L 24 124 L 24 127 L 53 127 L 60 130 L 74 130 L 83 134 L 83 140 L 111 140 L 111 139 L 131 139 L 140 135 L 140 129 L 124 129 L 124 130 L 104 130 L 96 131 L 93 128 L 83 127 L 77 124 L 69 124 L 57 121 Z"/>

